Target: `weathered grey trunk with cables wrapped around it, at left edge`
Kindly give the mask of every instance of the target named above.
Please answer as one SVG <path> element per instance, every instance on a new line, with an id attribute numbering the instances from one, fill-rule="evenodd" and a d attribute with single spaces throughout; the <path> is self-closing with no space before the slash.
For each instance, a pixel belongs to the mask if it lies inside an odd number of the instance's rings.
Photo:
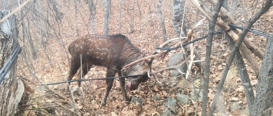
<path id="1" fill-rule="evenodd" d="M 0 11 L 0 19 L 11 13 L 11 11 Z M 22 81 L 17 81 L 17 55 L 20 46 L 17 43 L 17 19 L 16 15 L 10 16 L 7 20 L 0 24 L 0 69 L 5 70 L 0 77 L 0 115 L 15 115 L 19 101 L 21 100 L 24 86 Z M 8 61 L 8 60 L 11 61 Z M 14 61 L 14 63 L 12 63 Z M 3 66 L 4 64 L 4 66 Z M 10 64 L 10 67 L 5 65 Z M 3 75 L 5 74 L 6 75 Z"/>

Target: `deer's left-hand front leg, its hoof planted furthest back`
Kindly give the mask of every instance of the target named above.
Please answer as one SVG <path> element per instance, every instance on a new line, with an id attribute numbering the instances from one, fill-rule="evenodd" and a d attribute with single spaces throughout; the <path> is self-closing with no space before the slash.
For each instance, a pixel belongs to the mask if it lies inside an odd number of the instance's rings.
<path id="1" fill-rule="evenodd" d="M 116 70 L 113 70 L 113 69 L 107 69 L 107 72 L 106 72 L 106 78 L 108 77 L 114 77 L 116 75 Z M 105 106 L 105 103 L 106 103 L 106 100 L 107 100 L 107 97 L 109 95 L 109 92 L 113 86 L 113 82 L 114 82 L 114 79 L 106 79 L 106 83 L 107 83 L 107 88 L 106 88 L 106 93 L 105 93 L 105 97 L 101 103 L 102 106 Z"/>

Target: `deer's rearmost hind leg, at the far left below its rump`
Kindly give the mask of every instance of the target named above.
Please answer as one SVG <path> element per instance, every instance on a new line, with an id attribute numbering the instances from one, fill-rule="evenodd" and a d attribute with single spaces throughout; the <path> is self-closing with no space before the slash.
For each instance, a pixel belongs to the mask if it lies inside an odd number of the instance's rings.
<path id="1" fill-rule="evenodd" d="M 74 59 L 74 58 L 71 59 L 71 66 L 69 68 L 69 73 L 68 73 L 67 81 L 71 81 L 72 80 L 73 76 L 77 73 L 77 71 L 79 70 L 80 66 L 81 65 L 80 65 L 79 60 Z M 68 82 L 68 84 L 67 84 L 67 90 L 66 90 L 66 92 L 68 92 L 68 90 L 69 90 L 69 85 L 70 85 L 70 82 Z"/>

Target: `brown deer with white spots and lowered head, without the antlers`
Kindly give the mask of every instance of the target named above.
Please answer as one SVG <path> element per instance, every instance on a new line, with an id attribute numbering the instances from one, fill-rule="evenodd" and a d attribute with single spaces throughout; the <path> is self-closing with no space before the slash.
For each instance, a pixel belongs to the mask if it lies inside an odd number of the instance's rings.
<path id="1" fill-rule="evenodd" d="M 116 73 L 118 76 L 133 76 L 146 73 L 148 67 L 147 61 L 141 61 L 126 70 L 121 70 L 123 66 L 135 60 L 145 57 L 145 54 L 134 46 L 131 41 L 122 34 L 115 35 L 84 35 L 73 41 L 68 50 L 71 54 L 71 66 L 68 74 L 67 81 L 70 81 L 81 67 L 82 55 L 82 77 L 87 74 L 92 65 L 106 67 L 106 78 L 114 77 Z M 153 65 L 155 67 L 157 64 Z M 78 79 L 81 78 L 81 69 L 78 73 Z M 120 79 L 120 87 L 123 94 L 123 100 L 128 101 L 125 90 L 124 78 Z M 148 76 L 139 76 L 137 78 L 129 77 L 129 83 L 126 88 L 135 90 L 141 82 L 146 82 Z M 114 79 L 107 79 L 107 88 L 102 105 L 104 106 L 112 88 Z M 67 91 L 69 90 L 67 85 Z M 78 82 L 80 87 L 81 82 Z"/>

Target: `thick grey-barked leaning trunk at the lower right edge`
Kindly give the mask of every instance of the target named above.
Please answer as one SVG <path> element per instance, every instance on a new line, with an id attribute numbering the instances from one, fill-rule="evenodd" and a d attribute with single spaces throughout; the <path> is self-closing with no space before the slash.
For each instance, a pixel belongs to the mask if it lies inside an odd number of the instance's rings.
<path id="1" fill-rule="evenodd" d="M 273 35 L 268 39 L 256 88 L 254 114 L 269 116 L 273 106 Z M 271 110 L 269 110 L 271 108 Z M 263 113 L 263 114 L 262 114 Z"/>

